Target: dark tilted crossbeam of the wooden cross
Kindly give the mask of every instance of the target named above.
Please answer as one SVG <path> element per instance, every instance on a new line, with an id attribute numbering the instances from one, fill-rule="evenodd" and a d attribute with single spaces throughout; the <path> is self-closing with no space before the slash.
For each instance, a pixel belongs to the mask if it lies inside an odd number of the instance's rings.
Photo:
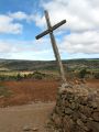
<path id="1" fill-rule="evenodd" d="M 56 30 L 57 28 L 59 28 L 61 25 L 63 25 L 64 23 L 66 23 L 66 20 L 61 21 L 59 23 L 55 24 L 54 26 L 51 26 L 48 30 L 44 31 L 43 33 L 38 34 L 36 37 L 36 40 L 43 37 L 44 35 L 53 32 L 54 30 Z"/>

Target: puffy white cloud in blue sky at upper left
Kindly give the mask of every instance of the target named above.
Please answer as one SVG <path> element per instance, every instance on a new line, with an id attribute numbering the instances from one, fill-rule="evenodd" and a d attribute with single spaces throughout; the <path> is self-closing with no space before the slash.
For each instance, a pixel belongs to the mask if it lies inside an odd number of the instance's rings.
<path id="1" fill-rule="evenodd" d="M 20 34 L 23 30 L 22 20 L 31 22 L 34 19 L 33 14 L 26 14 L 25 12 L 9 12 L 7 14 L 0 14 L 0 33 L 7 34 Z"/>

